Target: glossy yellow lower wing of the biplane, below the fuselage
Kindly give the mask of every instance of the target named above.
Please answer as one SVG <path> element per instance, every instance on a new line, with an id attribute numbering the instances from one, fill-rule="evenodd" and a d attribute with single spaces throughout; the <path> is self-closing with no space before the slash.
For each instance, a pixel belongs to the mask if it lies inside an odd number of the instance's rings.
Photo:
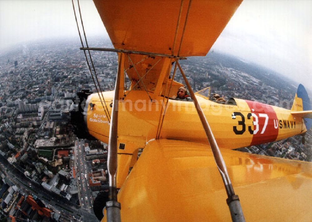
<path id="1" fill-rule="evenodd" d="M 246 221 L 311 221 L 311 163 L 221 152 Z M 226 198 L 210 147 L 174 140 L 149 142 L 118 194 L 122 221 L 231 221 Z"/>

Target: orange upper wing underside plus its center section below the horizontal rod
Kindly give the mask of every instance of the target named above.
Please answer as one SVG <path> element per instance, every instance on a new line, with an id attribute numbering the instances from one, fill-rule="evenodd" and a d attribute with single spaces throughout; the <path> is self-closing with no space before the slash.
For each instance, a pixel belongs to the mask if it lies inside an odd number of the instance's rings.
<path id="1" fill-rule="evenodd" d="M 189 0 L 94 0 L 94 3 L 117 49 L 205 56 L 241 1 L 193 0 L 190 7 Z M 132 81 L 130 89 L 154 92 L 151 97 L 156 99 L 164 91 L 173 61 L 167 57 L 127 54 L 122 65 Z M 177 89 L 176 83 L 169 96 Z"/>

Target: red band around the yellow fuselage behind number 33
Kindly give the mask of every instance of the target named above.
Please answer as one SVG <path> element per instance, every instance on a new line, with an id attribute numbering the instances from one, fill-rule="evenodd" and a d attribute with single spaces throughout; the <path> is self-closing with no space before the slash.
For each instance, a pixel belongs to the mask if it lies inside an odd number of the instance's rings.
<path id="1" fill-rule="evenodd" d="M 257 117 L 251 116 L 253 118 L 253 123 L 255 123 L 256 118 L 258 119 L 258 125 L 259 129 L 258 132 L 253 134 L 253 138 L 251 140 L 250 145 L 257 145 L 267 142 L 273 142 L 276 140 L 278 136 L 278 127 L 277 126 L 277 116 L 272 106 L 258 103 L 254 101 L 245 100 L 248 104 L 251 113 L 254 113 Z M 265 127 L 265 122 L 267 119 L 267 125 L 266 128 L 263 131 L 263 128 Z M 274 126 L 274 121 L 276 121 Z M 251 128 L 255 131 L 256 130 L 256 123 Z"/>

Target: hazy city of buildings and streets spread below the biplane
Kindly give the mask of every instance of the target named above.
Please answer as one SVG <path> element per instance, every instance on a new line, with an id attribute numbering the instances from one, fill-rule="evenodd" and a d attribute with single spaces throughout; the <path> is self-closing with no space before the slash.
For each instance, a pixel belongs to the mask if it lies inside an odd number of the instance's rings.
<path id="1" fill-rule="evenodd" d="M 117 55 L 92 53 L 102 90 L 113 90 Z M 181 64 L 195 91 L 293 103 L 297 86 L 261 66 L 214 51 Z M 69 110 L 82 89 L 96 91 L 78 42 L 32 42 L 0 56 L 0 221 L 98 221 L 93 201 L 108 188 L 107 144 L 74 134 Z M 310 129 L 304 144 L 294 136 L 238 150 L 311 162 L 311 148 Z"/>

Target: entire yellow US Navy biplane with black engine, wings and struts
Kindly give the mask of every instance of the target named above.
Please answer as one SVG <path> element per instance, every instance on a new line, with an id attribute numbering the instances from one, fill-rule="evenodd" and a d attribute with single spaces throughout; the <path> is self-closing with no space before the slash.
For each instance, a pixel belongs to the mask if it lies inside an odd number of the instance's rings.
<path id="1" fill-rule="evenodd" d="M 310 162 L 232 150 L 305 133 L 312 111 L 304 87 L 291 110 L 237 98 L 219 104 L 193 92 L 179 63 L 206 56 L 241 0 L 94 3 L 115 48 L 81 50 L 117 52 L 116 85 L 80 92 L 72 119 L 78 135 L 109 144 L 102 221 L 311 221 Z M 191 100 L 173 99 L 183 86 L 177 70 Z"/>

